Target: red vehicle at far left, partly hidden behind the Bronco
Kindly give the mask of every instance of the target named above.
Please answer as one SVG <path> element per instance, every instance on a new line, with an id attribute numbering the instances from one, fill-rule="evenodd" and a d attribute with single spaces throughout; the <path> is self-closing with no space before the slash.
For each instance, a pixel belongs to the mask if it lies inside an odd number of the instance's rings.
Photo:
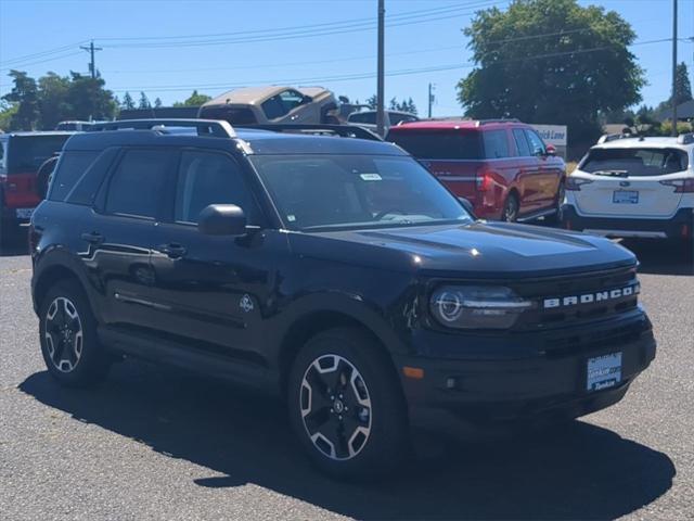
<path id="1" fill-rule="evenodd" d="M 0 233 L 27 224 L 41 202 L 37 171 L 74 132 L 0 134 Z M 0 238 L 2 239 L 2 238 Z"/>

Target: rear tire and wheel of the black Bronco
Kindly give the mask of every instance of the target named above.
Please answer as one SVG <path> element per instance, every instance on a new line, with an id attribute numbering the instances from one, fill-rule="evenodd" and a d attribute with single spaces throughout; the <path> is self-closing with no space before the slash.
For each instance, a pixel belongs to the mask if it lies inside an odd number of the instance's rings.
<path id="1" fill-rule="evenodd" d="M 61 281 L 48 291 L 39 308 L 39 334 L 46 367 L 61 385 L 91 386 L 108 372 L 111 357 L 99 343 L 97 320 L 77 283 Z"/>

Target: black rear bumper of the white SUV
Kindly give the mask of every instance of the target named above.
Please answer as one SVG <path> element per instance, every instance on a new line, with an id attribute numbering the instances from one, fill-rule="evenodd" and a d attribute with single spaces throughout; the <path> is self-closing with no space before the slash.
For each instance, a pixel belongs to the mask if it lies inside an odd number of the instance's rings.
<path id="1" fill-rule="evenodd" d="M 570 204 L 562 206 L 565 228 L 591 231 L 608 237 L 643 237 L 692 239 L 694 237 L 694 209 L 681 208 L 669 219 L 631 219 L 626 217 L 583 217 Z"/>

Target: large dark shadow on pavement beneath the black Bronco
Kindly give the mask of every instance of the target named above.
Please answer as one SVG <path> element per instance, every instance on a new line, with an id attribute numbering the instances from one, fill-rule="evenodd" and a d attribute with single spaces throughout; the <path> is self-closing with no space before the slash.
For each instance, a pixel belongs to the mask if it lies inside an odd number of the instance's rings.
<path id="1" fill-rule="evenodd" d="M 361 519 L 616 518 L 665 494 L 676 474 L 667 455 L 575 422 L 561 435 L 430 440 L 444 448 L 397 476 L 345 484 L 310 467 L 280 403 L 222 383 L 126 361 L 97 390 L 59 387 L 48 372 L 20 389 L 77 420 L 224 474 L 203 473 L 194 480 L 200 486 L 255 483 Z"/>

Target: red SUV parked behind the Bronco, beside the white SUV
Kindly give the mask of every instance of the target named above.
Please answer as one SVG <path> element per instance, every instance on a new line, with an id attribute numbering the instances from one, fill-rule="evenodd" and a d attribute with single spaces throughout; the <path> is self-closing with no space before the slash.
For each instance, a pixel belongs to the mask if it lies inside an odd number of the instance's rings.
<path id="1" fill-rule="evenodd" d="M 507 221 L 557 215 L 566 165 L 530 125 L 515 119 L 423 120 L 386 137 L 427 167 L 477 217 Z"/>

